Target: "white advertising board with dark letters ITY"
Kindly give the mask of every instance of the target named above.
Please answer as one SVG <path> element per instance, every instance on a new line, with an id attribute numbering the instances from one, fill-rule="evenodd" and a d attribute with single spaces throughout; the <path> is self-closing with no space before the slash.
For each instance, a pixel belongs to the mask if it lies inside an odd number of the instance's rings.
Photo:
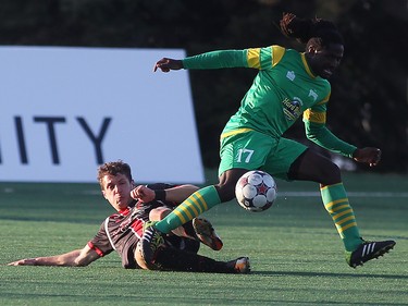
<path id="1" fill-rule="evenodd" d="M 175 49 L 0 47 L 0 181 L 95 183 L 106 161 L 138 182 L 202 183 L 188 74 Z"/>

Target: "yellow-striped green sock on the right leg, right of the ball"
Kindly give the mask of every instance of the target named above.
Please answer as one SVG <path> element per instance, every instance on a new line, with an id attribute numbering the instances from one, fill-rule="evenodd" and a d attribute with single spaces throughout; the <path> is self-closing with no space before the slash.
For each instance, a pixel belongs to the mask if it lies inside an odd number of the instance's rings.
<path id="1" fill-rule="evenodd" d="M 343 183 L 324 186 L 320 192 L 324 207 L 332 217 L 346 250 L 355 250 L 361 244 L 361 237 Z"/>

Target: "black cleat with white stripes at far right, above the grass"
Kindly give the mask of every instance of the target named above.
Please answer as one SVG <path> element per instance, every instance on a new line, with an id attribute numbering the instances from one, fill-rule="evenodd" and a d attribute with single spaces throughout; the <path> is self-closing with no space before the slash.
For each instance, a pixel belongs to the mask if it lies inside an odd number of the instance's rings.
<path id="1" fill-rule="evenodd" d="M 390 249 L 394 248 L 395 244 L 395 241 L 363 241 L 356 250 L 346 253 L 346 261 L 351 268 L 362 266 L 364 262 L 388 253 Z"/>

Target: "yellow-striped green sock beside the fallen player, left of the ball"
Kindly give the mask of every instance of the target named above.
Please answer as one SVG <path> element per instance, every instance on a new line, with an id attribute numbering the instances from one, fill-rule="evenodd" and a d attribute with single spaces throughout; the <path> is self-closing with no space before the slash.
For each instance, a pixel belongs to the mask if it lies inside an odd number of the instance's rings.
<path id="1" fill-rule="evenodd" d="M 170 233 L 220 203 L 219 193 L 214 186 L 203 187 L 190 195 L 154 227 L 162 233 Z"/>

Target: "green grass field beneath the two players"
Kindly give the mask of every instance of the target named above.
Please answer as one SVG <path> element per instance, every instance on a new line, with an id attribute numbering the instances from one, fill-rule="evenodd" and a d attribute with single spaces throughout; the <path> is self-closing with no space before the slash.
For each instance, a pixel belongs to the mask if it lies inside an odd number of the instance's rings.
<path id="1" fill-rule="evenodd" d="M 0 305 L 408 305 L 408 178 L 345 184 L 361 234 L 395 238 L 394 250 L 349 268 L 317 185 L 277 181 L 268 211 L 232 201 L 206 213 L 224 248 L 200 253 L 249 256 L 252 273 L 240 276 L 125 270 L 116 254 L 85 268 L 5 266 L 82 248 L 112 208 L 96 184 L 0 183 Z"/>

